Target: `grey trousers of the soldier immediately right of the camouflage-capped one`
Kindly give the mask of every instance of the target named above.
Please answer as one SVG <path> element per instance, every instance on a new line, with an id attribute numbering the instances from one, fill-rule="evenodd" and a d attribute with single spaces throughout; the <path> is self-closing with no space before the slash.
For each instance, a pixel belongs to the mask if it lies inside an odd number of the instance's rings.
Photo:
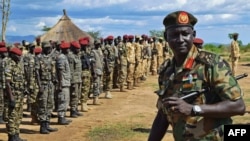
<path id="1" fill-rule="evenodd" d="M 58 91 L 58 117 L 65 117 L 67 108 L 69 106 L 69 86 L 62 87 L 61 91 Z"/>

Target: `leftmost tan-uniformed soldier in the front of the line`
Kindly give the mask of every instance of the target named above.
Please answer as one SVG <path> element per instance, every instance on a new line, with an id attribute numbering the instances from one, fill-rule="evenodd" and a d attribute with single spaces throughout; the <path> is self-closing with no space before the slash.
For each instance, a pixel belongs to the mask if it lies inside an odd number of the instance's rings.
<path id="1" fill-rule="evenodd" d="M 128 60 L 127 60 L 127 49 L 125 44 L 128 41 L 128 36 L 123 35 L 123 41 L 118 39 L 118 60 L 117 60 L 117 66 L 118 66 L 118 83 L 119 83 L 119 88 L 120 92 L 126 92 L 124 90 L 124 83 L 127 78 L 127 66 L 128 66 Z"/>

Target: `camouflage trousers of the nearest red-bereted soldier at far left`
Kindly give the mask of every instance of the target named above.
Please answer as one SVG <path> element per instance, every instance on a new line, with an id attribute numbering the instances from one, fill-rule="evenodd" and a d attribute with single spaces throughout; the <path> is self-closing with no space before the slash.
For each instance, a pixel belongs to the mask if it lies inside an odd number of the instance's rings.
<path id="1" fill-rule="evenodd" d="M 20 124 L 23 118 L 23 93 L 20 91 L 15 91 L 12 93 L 15 99 L 15 107 L 8 107 L 8 110 L 4 113 L 7 114 L 7 133 L 8 135 L 15 135 L 20 133 Z M 9 106 L 9 105 L 8 105 Z"/>

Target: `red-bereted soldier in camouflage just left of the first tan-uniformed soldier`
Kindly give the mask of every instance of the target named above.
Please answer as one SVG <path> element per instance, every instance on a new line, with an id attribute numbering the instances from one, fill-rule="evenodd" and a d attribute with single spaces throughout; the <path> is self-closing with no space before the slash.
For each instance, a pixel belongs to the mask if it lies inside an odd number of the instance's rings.
<path id="1" fill-rule="evenodd" d="M 103 55 L 104 55 L 104 73 L 103 73 L 103 89 L 105 91 L 105 98 L 111 99 L 112 94 L 110 90 L 112 89 L 112 79 L 114 71 L 114 62 L 115 62 L 115 50 L 113 46 L 113 36 L 108 36 L 107 45 L 105 46 Z"/>

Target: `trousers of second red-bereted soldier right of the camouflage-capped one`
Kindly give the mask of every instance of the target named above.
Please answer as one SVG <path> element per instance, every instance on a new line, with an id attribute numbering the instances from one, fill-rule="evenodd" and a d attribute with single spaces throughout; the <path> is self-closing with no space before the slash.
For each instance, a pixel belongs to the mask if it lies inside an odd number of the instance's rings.
<path id="1" fill-rule="evenodd" d="M 79 96 L 81 96 L 81 84 L 79 83 L 73 83 L 70 86 L 70 109 L 77 110 L 78 102 L 79 102 Z"/>

